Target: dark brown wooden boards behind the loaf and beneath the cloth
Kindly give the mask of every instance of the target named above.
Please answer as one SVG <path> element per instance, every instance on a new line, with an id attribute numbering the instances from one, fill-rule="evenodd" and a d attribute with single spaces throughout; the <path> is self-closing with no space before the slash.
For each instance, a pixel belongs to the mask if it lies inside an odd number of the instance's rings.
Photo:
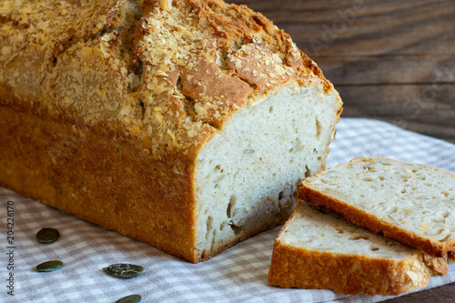
<path id="1" fill-rule="evenodd" d="M 339 90 L 342 116 L 455 143 L 454 0 L 227 0 L 262 12 Z M 455 283 L 389 302 L 452 302 Z"/>

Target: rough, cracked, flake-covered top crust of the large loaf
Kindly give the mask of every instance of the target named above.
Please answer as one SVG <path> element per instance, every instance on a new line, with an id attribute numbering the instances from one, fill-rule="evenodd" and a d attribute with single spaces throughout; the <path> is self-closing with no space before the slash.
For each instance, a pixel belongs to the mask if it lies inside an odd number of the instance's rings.
<path id="1" fill-rule="evenodd" d="M 263 15 L 221 0 L 3 0 L 1 104 L 189 155 L 282 86 L 333 87 Z"/>

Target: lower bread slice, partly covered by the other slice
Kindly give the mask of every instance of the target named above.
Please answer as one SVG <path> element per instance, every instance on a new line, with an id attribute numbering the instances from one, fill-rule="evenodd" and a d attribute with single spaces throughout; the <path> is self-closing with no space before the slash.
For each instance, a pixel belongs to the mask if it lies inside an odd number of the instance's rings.
<path id="1" fill-rule="evenodd" d="M 399 295 L 445 275 L 446 258 L 323 214 L 299 200 L 273 247 L 268 281 L 281 288 L 324 288 L 346 295 Z"/>

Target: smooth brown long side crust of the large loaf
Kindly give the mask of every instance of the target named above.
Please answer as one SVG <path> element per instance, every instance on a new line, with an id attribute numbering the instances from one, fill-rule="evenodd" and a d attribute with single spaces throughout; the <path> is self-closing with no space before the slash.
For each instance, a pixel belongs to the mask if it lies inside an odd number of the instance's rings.
<path id="1" fill-rule="evenodd" d="M 176 158 L 152 162 L 140 148 L 84 124 L 7 106 L 0 106 L 0 127 L 10 146 L 0 185 L 197 262 L 193 167 Z"/>

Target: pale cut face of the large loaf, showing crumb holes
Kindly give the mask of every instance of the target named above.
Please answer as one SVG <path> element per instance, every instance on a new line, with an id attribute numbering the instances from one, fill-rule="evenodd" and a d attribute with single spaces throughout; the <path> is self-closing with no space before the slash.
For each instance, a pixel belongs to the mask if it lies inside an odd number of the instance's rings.
<path id="1" fill-rule="evenodd" d="M 338 94 L 287 86 L 234 116 L 207 143 L 195 178 L 200 258 L 290 216 L 299 180 L 324 166 L 338 115 Z"/>

